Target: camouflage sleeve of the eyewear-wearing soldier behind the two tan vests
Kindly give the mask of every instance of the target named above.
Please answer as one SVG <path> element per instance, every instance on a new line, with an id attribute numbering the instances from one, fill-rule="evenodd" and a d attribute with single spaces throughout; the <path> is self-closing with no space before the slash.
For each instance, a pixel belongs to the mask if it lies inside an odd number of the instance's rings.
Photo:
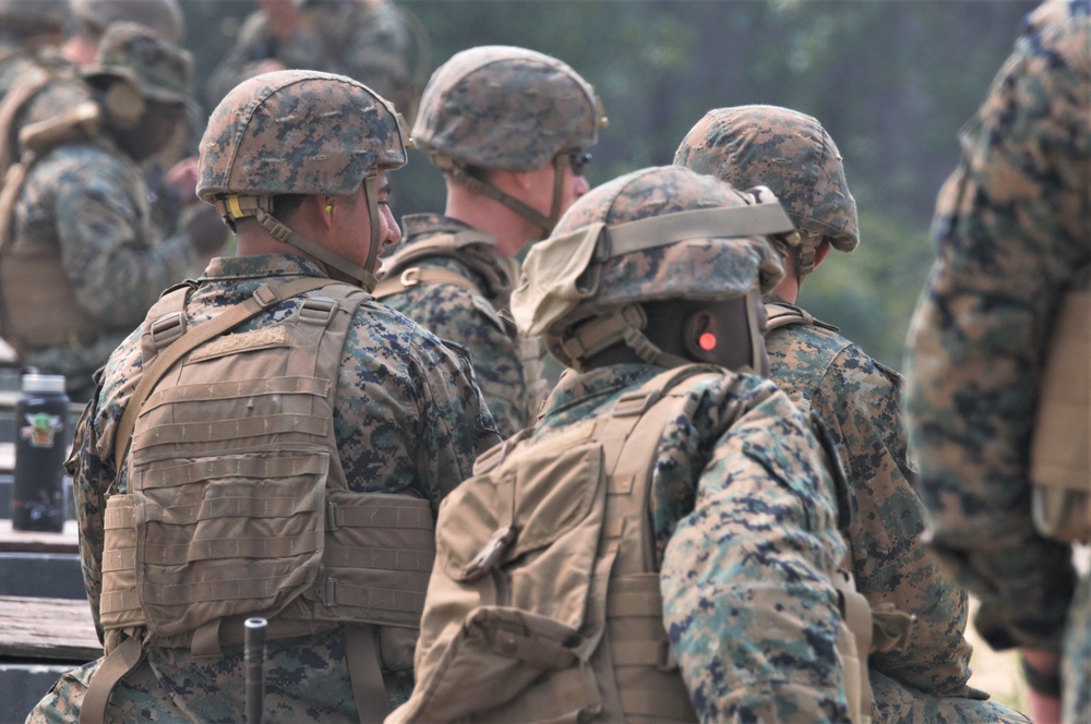
<path id="1" fill-rule="evenodd" d="M 527 386 L 516 342 L 489 303 L 456 285 L 433 285 L 412 316 L 440 339 L 469 352 L 470 363 L 496 430 L 509 437 L 527 424 Z"/>

